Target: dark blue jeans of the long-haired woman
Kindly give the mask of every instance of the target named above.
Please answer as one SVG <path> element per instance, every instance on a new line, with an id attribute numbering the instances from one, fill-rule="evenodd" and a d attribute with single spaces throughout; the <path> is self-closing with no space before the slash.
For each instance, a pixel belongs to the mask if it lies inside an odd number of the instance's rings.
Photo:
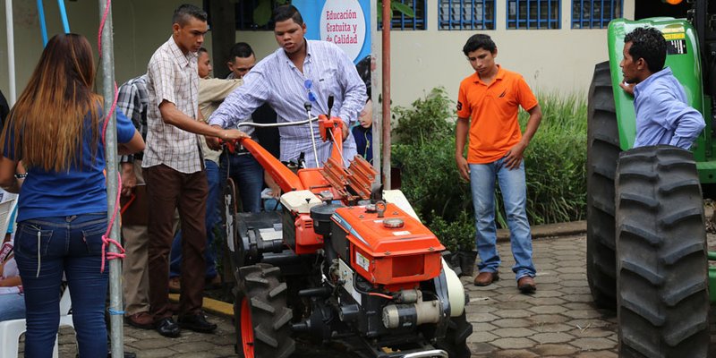
<path id="1" fill-rule="evenodd" d="M 104 312 L 109 269 L 100 272 L 102 234 L 106 231 L 107 213 L 18 223 L 14 250 L 25 292 L 25 357 L 52 356 L 63 273 L 72 296 L 80 357 L 107 356 Z"/>

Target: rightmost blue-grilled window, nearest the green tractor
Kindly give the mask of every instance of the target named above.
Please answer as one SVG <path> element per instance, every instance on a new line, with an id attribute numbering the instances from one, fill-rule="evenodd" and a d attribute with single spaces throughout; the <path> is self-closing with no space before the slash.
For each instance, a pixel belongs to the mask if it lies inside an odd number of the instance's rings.
<path id="1" fill-rule="evenodd" d="M 572 29 L 606 29 L 622 9 L 622 0 L 572 0 Z"/>

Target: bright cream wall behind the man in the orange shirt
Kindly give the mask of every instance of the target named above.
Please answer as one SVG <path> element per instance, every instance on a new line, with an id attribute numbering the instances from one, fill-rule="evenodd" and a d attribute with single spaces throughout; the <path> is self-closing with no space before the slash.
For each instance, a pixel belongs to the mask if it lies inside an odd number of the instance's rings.
<path id="1" fill-rule="evenodd" d="M 506 30 L 507 0 L 497 1 L 496 62 L 519 72 L 535 91 L 584 92 L 594 64 L 608 59 L 607 30 L 572 30 L 571 4 L 562 0 L 560 30 Z M 438 0 L 429 0 L 428 30 L 391 32 L 391 97 L 405 105 L 433 87 L 457 97 L 459 82 L 473 73 L 462 48 L 478 31 L 438 30 Z M 634 1 L 625 0 L 625 17 L 634 14 Z"/>

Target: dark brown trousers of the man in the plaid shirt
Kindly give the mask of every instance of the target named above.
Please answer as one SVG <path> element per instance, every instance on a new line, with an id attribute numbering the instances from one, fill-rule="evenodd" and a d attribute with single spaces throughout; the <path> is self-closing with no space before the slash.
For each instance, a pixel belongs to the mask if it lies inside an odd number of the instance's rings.
<path id="1" fill-rule="evenodd" d="M 174 239 L 173 217 L 179 209 L 182 227 L 182 294 L 179 315 L 201 310 L 207 243 L 207 175 L 202 170 L 183 174 L 169 166 L 143 169 L 149 197 L 149 313 L 154 320 L 171 317 L 168 311 L 169 251 Z"/>

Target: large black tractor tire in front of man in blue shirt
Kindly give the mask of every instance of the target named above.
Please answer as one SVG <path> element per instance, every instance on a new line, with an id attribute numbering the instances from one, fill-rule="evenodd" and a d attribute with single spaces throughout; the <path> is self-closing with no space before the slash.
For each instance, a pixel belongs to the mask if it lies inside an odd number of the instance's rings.
<path id="1" fill-rule="evenodd" d="M 616 180 L 619 356 L 706 357 L 708 261 L 693 154 L 628 150 Z"/>

